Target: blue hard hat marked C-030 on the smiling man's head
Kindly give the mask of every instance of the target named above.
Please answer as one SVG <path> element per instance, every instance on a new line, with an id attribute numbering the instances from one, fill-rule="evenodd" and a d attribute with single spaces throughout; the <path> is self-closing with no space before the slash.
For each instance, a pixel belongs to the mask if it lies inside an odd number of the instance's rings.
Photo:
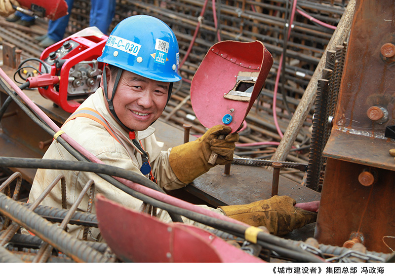
<path id="1" fill-rule="evenodd" d="M 163 21 L 148 15 L 125 18 L 111 32 L 99 62 L 161 82 L 177 82 L 177 38 Z"/>

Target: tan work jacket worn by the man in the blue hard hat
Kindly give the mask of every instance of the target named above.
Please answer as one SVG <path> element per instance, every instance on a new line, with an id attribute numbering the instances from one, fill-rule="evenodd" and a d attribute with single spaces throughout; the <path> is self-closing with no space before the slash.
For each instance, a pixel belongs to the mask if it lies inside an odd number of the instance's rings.
<path id="1" fill-rule="evenodd" d="M 118 138 L 121 139 L 123 145 L 113 138 L 100 123 L 89 118 L 77 117 L 64 124 L 61 129 L 105 164 L 142 174 L 140 172 L 140 167 L 142 165 L 141 154 L 134 149 L 128 133 L 118 125 L 108 112 L 102 89 L 99 88 L 94 94 L 88 97 L 79 108 L 83 107 L 92 108 L 99 112 L 107 120 Z M 141 140 L 143 148 L 149 154 L 154 176 L 158 179 L 158 185 L 167 190 L 185 186 L 186 184 L 182 183 L 176 177 L 168 163 L 168 156 L 171 148 L 167 151 L 161 151 L 163 143 L 156 140 L 153 134 L 154 131 L 155 129 L 153 127 L 149 127 L 144 131 L 135 133 L 136 138 Z M 56 140 L 49 146 L 43 159 L 76 161 L 76 159 Z M 33 203 L 41 192 L 59 174 L 63 174 L 66 179 L 67 208 L 70 208 L 73 203 L 75 203 L 82 188 L 90 179 L 94 180 L 95 193 L 101 193 L 112 201 L 136 210 L 138 210 L 143 203 L 141 200 L 109 184 L 95 173 L 42 169 L 39 169 L 36 173 L 29 195 L 29 203 Z M 79 210 L 86 211 L 88 199 L 88 195 L 85 194 L 79 205 Z M 56 208 L 62 207 L 60 182 L 42 201 L 41 205 Z M 95 213 L 94 206 L 92 212 Z M 166 218 L 165 221 L 170 220 L 167 212 L 159 212 L 158 217 L 162 219 Z"/>

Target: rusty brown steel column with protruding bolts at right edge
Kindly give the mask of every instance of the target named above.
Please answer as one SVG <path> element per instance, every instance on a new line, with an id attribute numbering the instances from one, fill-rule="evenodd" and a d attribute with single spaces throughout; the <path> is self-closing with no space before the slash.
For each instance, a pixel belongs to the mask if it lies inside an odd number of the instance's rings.
<path id="1" fill-rule="evenodd" d="M 362 233 L 370 251 L 395 247 L 395 161 L 389 154 L 395 141 L 384 137 L 386 126 L 395 123 L 394 61 L 382 50 L 394 41 L 394 10 L 393 0 L 356 3 L 334 127 L 324 149 L 328 162 L 315 234 L 320 243 L 340 246 L 352 233 Z M 370 185 L 358 180 L 363 172 L 372 174 Z"/>

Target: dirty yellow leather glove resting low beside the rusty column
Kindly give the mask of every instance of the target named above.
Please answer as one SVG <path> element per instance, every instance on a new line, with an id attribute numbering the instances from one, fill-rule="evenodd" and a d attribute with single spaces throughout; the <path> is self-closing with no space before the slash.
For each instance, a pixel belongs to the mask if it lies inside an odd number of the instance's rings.
<path id="1" fill-rule="evenodd" d="M 295 208 L 296 201 L 289 196 L 273 196 L 247 205 L 218 207 L 229 217 L 258 227 L 266 226 L 273 235 L 286 235 L 316 221 L 317 214 Z"/>

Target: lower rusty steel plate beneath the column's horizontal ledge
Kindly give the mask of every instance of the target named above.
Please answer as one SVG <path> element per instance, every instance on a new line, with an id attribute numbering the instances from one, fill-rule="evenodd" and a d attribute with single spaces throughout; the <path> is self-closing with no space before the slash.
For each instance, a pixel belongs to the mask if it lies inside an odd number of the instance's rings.
<path id="1" fill-rule="evenodd" d="M 395 249 L 395 173 L 377 169 L 378 181 L 363 186 L 358 175 L 367 168 L 328 158 L 316 222 L 319 243 L 342 246 L 352 232 L 360 232 L 369 251 L 390 253 Z"/>

